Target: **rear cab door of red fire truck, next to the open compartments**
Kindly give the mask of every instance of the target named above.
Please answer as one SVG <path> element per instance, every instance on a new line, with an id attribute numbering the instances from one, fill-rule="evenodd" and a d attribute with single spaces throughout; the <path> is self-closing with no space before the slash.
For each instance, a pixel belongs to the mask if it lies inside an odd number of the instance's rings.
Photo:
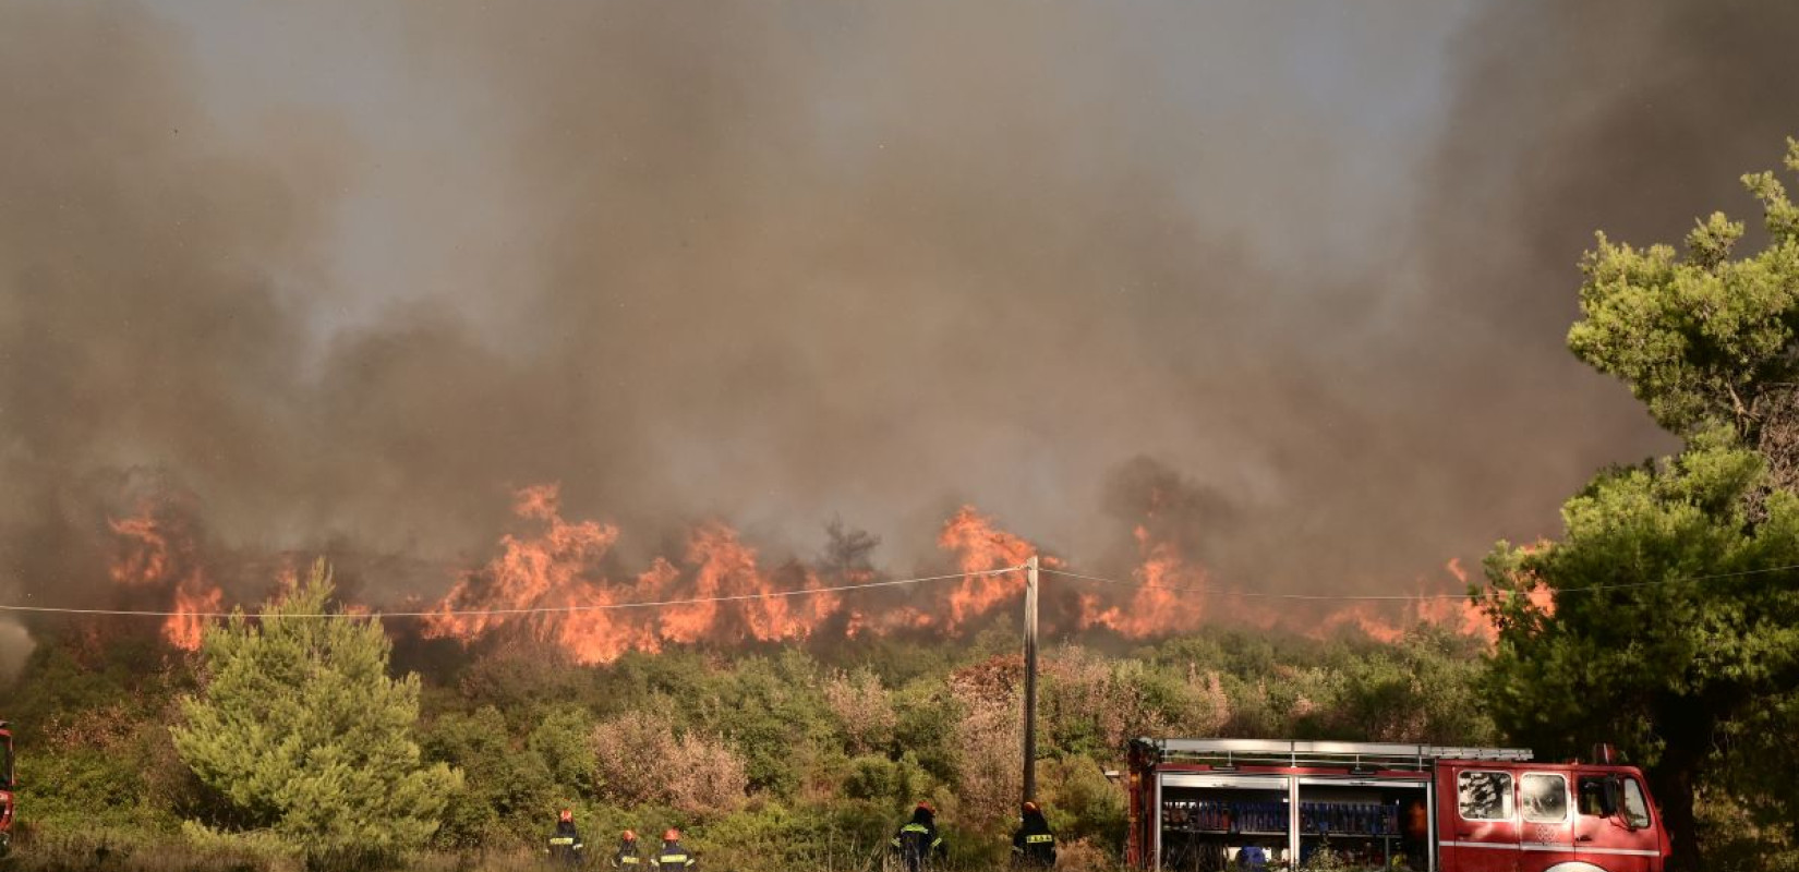
<path id="1" fill-rule="evenodd" d="M 1437 770 L 1441 872 L 1518 872 L 1518 805 L 1511 771 Z"/>

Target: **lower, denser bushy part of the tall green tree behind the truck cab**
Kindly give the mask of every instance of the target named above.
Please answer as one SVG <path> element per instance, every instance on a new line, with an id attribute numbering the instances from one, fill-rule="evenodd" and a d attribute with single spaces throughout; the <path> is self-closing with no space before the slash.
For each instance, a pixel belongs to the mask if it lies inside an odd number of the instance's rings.
<path id="1" fill-rule="evenodd" d="M 1493 716 L 1549 755 L 1614 741 L 1650 775 L 1678 868 L 1700 868 L 1695 795 L 1750 796 L 1768 820 L 1799 804 L 1786 735 L 1799 701 L 1799 496 L 1756 494 L 1761 458 L 1714 430 L 1653 467 L 1601 475 L 1538 548 L 1500 547 L 1488 601 L 1500 624 Z M 1752 512 L 1752 507 L 1761 509 Z M 1704 579 L 1704 581 L 1687 581 Z M 1777 730 L 1770 730 L 1783 726 Z M 1759 761 L 1759 762 L 1756 762 Z"/>

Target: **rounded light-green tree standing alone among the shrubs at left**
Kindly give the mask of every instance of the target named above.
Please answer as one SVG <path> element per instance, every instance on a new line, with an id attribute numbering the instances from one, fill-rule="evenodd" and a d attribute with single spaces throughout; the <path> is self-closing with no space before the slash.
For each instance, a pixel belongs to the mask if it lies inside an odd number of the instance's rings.
<path id="1" fill-rule="evenodd" d="M 419 680 L 387 674 L 372 618 L 326 617 L 331 572 L 209 627 L 203 685 L 182 699 L 175 746 L 230 805 L 223 832 L 273 834 L 311 854 L 423 845 L 461 773 L 421 766 L 412 737 Z"/>

